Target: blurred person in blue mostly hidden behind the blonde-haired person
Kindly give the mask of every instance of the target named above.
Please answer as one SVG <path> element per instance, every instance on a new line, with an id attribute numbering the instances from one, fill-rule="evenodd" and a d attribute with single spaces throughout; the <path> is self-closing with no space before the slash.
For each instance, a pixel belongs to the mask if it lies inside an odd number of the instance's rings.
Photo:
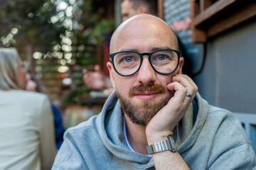
<path id="1" fill-rule="evenodd" d="M 36 77 L 34 77 L 31 72 L 27 72 L 26 80 L 26 91 L 34 91 L 46 94 L 46 88 L 43 86 L 42 82 L 36 79 Z M 50 103 L 50 107 L 53 112 L 56 148 L 60 149 L 60 146 L 63 143 L 63 135 L 65 132 L 65 128 L 63 127 L 63 119 L 62 115 L 60 114 L 60 110 L 54 106 L 53 103 Z"/>

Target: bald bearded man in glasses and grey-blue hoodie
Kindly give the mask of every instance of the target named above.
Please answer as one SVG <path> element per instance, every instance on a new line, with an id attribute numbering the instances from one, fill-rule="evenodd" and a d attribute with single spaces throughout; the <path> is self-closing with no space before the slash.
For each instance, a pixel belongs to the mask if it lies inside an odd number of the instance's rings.
<path id="1" fill-rule="evenodd" d="M 112 35 L 115 91 L 102 112 L 65 132 L 53 169 L 255 169 L 233 113 L 208 105 L 181 74 L 176 35 L 141 14 Z"/>

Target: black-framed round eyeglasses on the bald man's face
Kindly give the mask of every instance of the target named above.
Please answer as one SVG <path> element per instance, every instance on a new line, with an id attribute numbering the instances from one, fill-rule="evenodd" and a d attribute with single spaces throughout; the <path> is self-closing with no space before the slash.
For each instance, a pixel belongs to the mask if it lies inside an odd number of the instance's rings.
<path id="1" fill-rule="evenodd" d="M 129 77 L 139 71 L 144 55 L 149 56 L 149 63 L 155 72 L 159 74 L 171 74 L 178 68 L 181 51 L 171 49 L 143 53 L 120 51 L 111 53 L 109 56 L 114 70 L 123 77 Z"/>

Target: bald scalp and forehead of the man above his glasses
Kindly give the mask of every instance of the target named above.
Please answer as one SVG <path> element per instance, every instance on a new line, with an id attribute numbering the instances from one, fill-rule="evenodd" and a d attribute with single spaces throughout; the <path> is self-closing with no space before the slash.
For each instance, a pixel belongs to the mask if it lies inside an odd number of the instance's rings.
<path id="1" fill-rule="evenodd" d="M 110 53 L 127 48 L 129 50 L 136 50 L 136 47 L 132 47 L 127 42 L 138 41 L 142 42 L 139 43 L 141 45 L 150 43 L 151 46 L 163 46 L 178 50 L 176 35 L 164 21 L 149 14 L 139 14 L 124 21 L 114 31 L 110 40 Z"/>

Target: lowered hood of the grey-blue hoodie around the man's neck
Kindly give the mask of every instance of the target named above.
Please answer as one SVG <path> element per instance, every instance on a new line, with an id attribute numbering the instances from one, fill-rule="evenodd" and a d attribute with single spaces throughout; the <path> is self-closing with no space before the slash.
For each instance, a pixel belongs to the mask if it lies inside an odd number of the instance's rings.
<path id="1" fill-rule="evenodd" d="M 200 129 L 203 127 L 203 123 L 207 117 L 207 115 L 203 115 L 201 111 L 208 107 L 208 103 L 202 101 L 203 99 L 199 94 L 196 94 L 196 100 L 198 101 L 197 103 L 203 103 L 198 106 L 198 118 L 196 118 L 195 125 L 193 125 L 193 105 L 191 103 L 188 111 L 174 129 L 174 139 L 176 140 L 176 147 L 180 154 L 185 152 L 189 147 L 193 146 L 194 142 L 196 142 L 196 137 L 200 133 Z M 205 111 L 205 113 L 208 113 L 208 111 Z M 151 157 L 132 152 L 127 147 L 124 140 L 122 125 L 120 103 L 114 91 L 110 97 L 107 98 L 105 106 L 102 108 L 102 113 L 97 117 L 97 129 L 102 142 L 116 157 L 129 162 L 153 165 L 154 163 Z"/>

